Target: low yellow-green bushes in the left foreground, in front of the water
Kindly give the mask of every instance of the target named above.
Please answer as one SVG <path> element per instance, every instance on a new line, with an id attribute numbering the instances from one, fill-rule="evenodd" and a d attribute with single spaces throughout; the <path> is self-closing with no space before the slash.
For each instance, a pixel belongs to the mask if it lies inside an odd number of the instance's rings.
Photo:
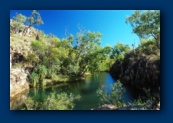
<path id="1" fill-rule="evenodd" d="M 75 106 L 75 101 L 80 100 L 80 95 L 75 96 L 70 93 L 51 93 L 42 102 L 27 98 L 25 101 L 26 108 L 23 110 L 72 110 Z"/>

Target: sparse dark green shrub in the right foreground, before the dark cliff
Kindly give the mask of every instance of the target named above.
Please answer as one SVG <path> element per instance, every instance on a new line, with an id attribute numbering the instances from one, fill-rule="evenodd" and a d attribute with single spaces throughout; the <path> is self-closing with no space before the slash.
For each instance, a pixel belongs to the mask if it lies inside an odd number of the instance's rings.
<path id="1" fill-rule="evenodd" d="M 146 110 L 152 109 L 150 100 L 142 101 L 139 97 L 137 100 L 133 102 L 125 103 L 123 101 L 123 94 L 125 92 L 125 88 L 122 86 L 120 81 L 114 83 L 111 86 L 111 92 L 104 92 L 103 89 L 97 90 L 97 95 L 100 99 L 100 104 L 111 104 L 115 105 L 117 108 L 126 108 L 127 110 Z"/>

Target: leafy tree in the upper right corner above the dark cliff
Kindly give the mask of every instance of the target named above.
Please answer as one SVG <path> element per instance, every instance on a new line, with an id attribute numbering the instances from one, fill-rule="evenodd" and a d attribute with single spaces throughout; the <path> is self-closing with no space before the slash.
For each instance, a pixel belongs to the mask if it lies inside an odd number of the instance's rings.
<path id="1" fill-rule="evenodd" d="M 126 23 L 130 23 L 133 32 L 140 38 L 154 38 L 157 48 L 160 49 L 160 11 L 136 10 L 131 16 L 126 18 Z"/>

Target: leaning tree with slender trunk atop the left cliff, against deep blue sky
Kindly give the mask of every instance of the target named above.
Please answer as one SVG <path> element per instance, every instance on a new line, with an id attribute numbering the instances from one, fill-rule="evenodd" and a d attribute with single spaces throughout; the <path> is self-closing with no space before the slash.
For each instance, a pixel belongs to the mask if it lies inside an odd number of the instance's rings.
<path id="1" fill-rule="evenodd" d="M 30 17 L 27 18 L 27 27 L 24 29 L 23 34 L 26 35 L 27 30 L 33 26 L 38 26 L 40 24 L 44 24 L 44 22 L 42 21 L 42 18 L 40 16 L 40 13 L 38 13 L 36 10 L 32 11 L 32 14 Z"/>

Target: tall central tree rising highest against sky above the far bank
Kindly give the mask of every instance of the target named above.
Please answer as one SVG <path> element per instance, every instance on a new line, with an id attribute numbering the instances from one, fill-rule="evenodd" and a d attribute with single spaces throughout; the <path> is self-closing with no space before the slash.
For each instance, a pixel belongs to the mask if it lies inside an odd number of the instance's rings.
<path id="1" fill-rule="evenodd" d="M 80 31 L 77 33 L 77 51 L 78 55 L 76 56 L 76 62 L 80 66 L 80 74 L 84 73 L 91 67 L 92 61 L 96 58 L 96 50 L 101 44 L 102 34 L 99 32 L 90 32 L 82 33 Z M 90 65 L 90 67 L 88 67 Z M 95 64 L 96 65 L 96 64 Z"/>

